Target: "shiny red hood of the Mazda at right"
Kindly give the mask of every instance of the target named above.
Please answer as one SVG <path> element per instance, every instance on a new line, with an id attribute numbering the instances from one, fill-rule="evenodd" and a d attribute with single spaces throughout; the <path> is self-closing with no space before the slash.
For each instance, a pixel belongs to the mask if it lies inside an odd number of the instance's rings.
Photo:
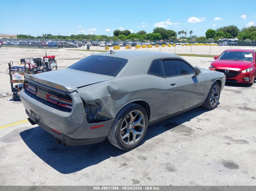
<path id="1" fill-rule="evenodd" d="M 215 60 L 211 63 L 213 67 L 218 69 L 236 68 L 236 69 L 247 69 L 253 65 L 254 61 L 243 61 L 243 60 Z"/>

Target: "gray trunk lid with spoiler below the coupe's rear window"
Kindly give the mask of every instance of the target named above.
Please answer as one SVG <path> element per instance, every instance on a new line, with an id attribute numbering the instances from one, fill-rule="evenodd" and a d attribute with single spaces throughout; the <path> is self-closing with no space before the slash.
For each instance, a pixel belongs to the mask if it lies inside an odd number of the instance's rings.
<path id="1" fill-rule="evenodd" d="M 81 88 L 84 86 L 96 84 L 102 81 L 107 81 L 115 78 L 114 76 L 106 76 L 101 74 L 83 72 L 70 68 L 54 70 L 51 72 L 42 72 L 34 75 L 27 74 L 25 75 L 25 77 L 53 88 L 58 89 L 58 87 L 62 87 L 59 89 L 68 92 L 72 92 L 77 88 Z"/>

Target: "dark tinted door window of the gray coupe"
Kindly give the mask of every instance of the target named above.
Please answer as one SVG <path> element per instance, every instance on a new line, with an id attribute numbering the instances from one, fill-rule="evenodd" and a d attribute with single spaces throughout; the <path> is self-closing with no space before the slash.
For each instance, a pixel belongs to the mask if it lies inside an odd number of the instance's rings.
<path id="1" fill-rule="evenodd" d="M 181 60 L 163 60 L 165 77 L 193 74 L 194 70 Z"/>

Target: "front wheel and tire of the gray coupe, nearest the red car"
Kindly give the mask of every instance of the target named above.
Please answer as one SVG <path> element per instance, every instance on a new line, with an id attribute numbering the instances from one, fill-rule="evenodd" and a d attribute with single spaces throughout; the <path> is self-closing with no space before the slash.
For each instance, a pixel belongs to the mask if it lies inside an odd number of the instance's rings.
<path id="1" fill-rule="evenodd" d="M 214 93 L 214 91 L 216 91 L 216 93 Z M 218 81 L 215 81 L 212 84 L 212 86 L 210 88 L 210 91 L 209 91 L 209 93 L 206 97 L 206 100 L 204 101 L 202 107 L 204 107 L 208 110 L 213 110 L 218 105 L 220 95 L 221 95 L 221 86 L 220 86 Z M 214 99 L 214 96 L 215 96 L 215 99 Z"/>

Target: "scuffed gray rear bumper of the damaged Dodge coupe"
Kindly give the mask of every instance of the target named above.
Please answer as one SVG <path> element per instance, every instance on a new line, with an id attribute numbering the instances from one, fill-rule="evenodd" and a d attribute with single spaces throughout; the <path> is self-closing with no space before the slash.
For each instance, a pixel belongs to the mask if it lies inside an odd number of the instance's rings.
<path id="1" fill-rule="evenodd" d="M 83 102 L 78 93 L 73 92 L 69 95 L 72 100 L 76 100 L 76 103 L 73 102 L 71 112 L 66 112 L 24 89 L 20 92 L 20 98 L 29 118 L 67 145 L 88 145 L 103 141 L 115 119 L 88 123 Z M 100 127 L 94 128 L 95 126 Z M 53 132 L 52 129 L 62 134 Z"/>

